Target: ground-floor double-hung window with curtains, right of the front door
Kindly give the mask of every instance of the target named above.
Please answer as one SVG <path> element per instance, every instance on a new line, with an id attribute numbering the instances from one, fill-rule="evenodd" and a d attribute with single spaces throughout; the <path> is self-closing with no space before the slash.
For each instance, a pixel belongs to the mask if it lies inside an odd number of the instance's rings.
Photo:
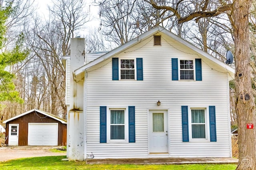
<path id="1" fill-rule="evenodd" d="M 205 109 L 191 109 L 192 139 L 206 138 Z"/>

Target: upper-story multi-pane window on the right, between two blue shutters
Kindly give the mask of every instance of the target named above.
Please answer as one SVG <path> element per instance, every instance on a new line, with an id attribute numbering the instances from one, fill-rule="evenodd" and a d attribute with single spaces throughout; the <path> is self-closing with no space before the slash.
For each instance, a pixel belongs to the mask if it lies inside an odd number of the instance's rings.
<path id="1" fill-rule="evenodd" d="M 180 80 L 194 80 L 193 60 L 180 60 Z"/>

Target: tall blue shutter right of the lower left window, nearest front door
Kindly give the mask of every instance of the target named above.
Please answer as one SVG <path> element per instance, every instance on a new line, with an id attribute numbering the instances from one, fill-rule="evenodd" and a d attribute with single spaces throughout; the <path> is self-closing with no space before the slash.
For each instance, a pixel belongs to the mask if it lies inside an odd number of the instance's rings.
<path id="1" fill-rule="evenodd" d="M 135 143 L 135 106 L 129 106 L 128 112 L 129 112 L 129 143 Z"/>

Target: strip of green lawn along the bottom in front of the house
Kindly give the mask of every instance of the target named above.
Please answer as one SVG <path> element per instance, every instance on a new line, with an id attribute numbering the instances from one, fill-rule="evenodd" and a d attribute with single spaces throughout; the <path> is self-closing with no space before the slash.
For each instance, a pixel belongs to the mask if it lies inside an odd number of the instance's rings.
<path id="1" fill-rule="evenodd" d="M 0 162 L 0 170 L 235 170 L 236 164 L 107 165 L 62 161 L 66 156 L 43 156 Z"/>

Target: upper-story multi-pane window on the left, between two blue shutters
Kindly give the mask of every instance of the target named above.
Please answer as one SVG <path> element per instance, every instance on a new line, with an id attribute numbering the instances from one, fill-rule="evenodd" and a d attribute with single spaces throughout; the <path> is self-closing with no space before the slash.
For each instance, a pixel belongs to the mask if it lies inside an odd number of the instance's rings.
<path id="1" fill-rule="evenodd" d="M 135 66 L 134 59 L 121 59 L 120 60 L 120 73 L 122 79 L 135 79 Z"/>

